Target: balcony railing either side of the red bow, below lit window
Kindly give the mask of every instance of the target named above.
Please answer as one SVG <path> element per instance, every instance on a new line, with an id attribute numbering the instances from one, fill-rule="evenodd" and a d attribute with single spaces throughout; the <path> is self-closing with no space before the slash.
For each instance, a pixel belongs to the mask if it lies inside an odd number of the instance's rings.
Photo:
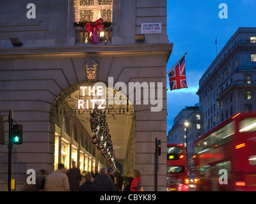
<path id="1" fill-rule="evenodd" d="M 112 26 L 98 31 L 99 42 L 96 45 L 108 45 L 111 44 L 112 38 Z M 88 44 L 92 45 L 91 34 L 86 33 L 84 28 L 76 27 L 76 44 Z"/>

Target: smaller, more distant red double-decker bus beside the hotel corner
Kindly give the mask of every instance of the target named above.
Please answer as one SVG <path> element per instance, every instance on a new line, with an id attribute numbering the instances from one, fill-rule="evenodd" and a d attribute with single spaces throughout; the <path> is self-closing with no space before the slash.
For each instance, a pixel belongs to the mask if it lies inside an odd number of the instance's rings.
<path id="1" fill-rule="evenodd" d="M 186 149 L 183 144 L 167 144 L 166 191 L 188 191 Z"/>

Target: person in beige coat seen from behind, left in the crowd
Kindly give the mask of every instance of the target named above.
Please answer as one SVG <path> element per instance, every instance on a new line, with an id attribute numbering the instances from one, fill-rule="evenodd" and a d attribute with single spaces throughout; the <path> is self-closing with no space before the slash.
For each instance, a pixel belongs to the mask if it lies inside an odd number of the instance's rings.
<path id="1" fill-rule="evenodd" d="M 58 164 L 58 170 L 45 177 L 45 191 L 70 191 L 68 176 L 64 164 Z"/>

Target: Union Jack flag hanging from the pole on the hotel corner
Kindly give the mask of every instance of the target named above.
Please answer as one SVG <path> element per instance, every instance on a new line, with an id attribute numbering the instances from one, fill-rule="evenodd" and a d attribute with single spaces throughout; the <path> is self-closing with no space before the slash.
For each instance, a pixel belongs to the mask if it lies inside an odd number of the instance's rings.
<path id="1" fill-rule="evenodd" d="M 171 91 L 173 89 L 188 88 L 186 82 L 185 56 L 182 57 L 175 68 L 168 73 L 168 76 Z"/>

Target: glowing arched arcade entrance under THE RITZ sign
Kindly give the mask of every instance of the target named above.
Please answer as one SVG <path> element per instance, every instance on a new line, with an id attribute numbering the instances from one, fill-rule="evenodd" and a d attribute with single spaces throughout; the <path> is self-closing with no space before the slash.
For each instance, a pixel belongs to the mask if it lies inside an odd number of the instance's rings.
<path id="1" fill-rule="evenodd" d="M 76 161 L 82 171 L 122 164 L 132 171 L 135 156 L 134 107 L 119 87 L 104 82 L 72 85 L 51 108 L 54 125 L 54 168 Z"/>

